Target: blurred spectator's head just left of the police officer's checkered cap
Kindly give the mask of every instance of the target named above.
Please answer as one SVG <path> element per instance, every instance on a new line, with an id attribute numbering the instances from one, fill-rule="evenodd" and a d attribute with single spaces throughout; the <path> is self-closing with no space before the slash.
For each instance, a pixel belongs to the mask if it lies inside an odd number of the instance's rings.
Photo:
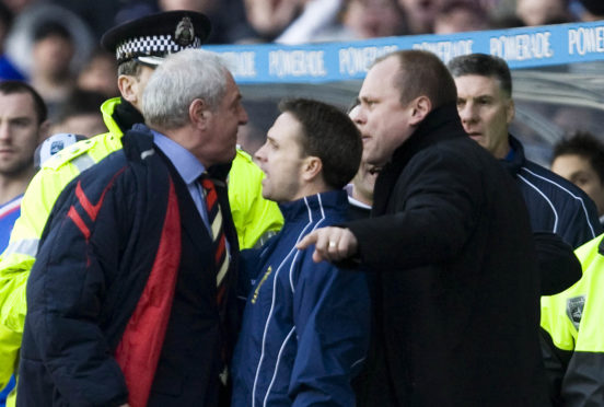
<path id="1" fill-rule="evenodd" d="M 78 88 L 100 92 L 105 98 L 118 96 L 115 56 L 101 47 L 96 48 L 78 75 Z"/>

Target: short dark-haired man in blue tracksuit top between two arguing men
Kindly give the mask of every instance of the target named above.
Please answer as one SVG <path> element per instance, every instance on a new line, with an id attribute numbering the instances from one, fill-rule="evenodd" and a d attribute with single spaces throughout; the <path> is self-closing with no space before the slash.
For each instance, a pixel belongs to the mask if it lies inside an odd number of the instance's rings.
<path id="1" fill-rule="evenodd" d="M 362 272 L 313 263 L 295 244 L 315 228 L 345 221 L 342 187 L 362 144 L 352 121 L 315 101 L 282 103 L 256 159 L 263 196 L 280 203 L 286 223 L 258 251 L 245 253 L 253 281 L 233 359 L 232 406 L 353 406 L 370 333 Z M 242 276 L 243 278 L 243 276 Z"/>

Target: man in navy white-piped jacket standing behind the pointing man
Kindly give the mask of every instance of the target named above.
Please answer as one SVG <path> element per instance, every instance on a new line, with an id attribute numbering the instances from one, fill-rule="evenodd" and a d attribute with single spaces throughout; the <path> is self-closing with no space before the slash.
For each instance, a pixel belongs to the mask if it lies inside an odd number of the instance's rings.
<path id="1" fill-rule="evenodd" d="M 514 118 L 512 78 L 504 60 L 472 54 L 453 58 L 457 111 L 466 132 L 516 179 L 534 232 L 551 232 L 577 248 L 602 233 L 595 205 L 579 187 L 524 156 L 508 132 Z"/>

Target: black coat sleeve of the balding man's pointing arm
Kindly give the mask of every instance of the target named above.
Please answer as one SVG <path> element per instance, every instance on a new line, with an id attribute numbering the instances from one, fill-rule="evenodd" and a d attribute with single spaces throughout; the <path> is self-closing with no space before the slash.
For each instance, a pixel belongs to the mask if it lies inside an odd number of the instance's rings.
<path id="1" fill-rule="evenodd" d="M 410 166 L 404 175 L 410 181 L 404 196 L 396 197 L 395 213 L 346 223 L 370 268 L 445 261 L 460 252 L 476 226 L 485 195 L 478 171 L 442 152 L 414 159 Z"/>

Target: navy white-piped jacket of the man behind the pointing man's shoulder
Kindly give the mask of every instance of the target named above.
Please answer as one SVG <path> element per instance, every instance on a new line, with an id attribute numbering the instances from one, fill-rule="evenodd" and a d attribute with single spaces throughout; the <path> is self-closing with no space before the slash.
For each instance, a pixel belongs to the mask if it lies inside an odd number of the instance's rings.
<path id="1" fill-rule="evenodd" d="M 602 233 L 593 201 L 579 187 L 524 156 L 520 141 L 510 135 L 511 160 L 501 162 L 518 185 L 528 208 L 534 232 L 553 232 L 577 248 Z"/>

